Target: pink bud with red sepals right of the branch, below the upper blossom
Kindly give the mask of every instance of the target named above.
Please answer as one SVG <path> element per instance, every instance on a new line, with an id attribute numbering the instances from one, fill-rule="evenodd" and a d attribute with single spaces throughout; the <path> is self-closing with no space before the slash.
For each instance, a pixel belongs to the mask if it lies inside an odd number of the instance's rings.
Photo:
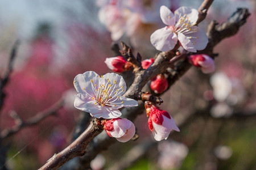
<path id="1" fill-rule="evenodd" d="M 196 67 L 201 67 L 203 73 L 212 73 L 215 69 L 214 61 L 206 54 L 196 54 L 189 56 L 189 61 Z"/>

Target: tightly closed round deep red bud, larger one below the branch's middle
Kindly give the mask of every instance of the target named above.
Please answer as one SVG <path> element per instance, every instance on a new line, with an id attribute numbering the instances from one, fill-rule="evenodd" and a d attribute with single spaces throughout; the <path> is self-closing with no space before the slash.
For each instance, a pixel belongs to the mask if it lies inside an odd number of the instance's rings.
<path id="1" fill-rule="evenodd" d="M 152 79 L 150 87 L 156 94 L 162 94 L 168 88 L 167 79 L 163 74 L 158 74 Z"/>

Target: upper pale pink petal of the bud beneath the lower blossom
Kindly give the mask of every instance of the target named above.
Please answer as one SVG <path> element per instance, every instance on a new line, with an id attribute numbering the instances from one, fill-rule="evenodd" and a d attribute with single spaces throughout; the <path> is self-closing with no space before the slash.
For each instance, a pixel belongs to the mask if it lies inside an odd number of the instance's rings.
<path id="1" fill-rule="evenodd" d="M 133 124 L 133 122 L 126 118 L 118 119 L 113 122 L 114 129 L 110 131 L 110 134 L 114 138 L 120 138 L 125 135 L 127 129 L 130 129 L 131 124 Z"/>

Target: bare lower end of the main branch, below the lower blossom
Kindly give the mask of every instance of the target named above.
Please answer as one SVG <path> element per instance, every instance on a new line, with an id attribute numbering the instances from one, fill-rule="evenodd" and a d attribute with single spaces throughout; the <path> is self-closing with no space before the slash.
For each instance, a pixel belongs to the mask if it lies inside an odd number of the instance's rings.
<path id="1" fill-rule="evenodd" d="M 90 141 L 103 130 L 103 126 L 99 124 L 97 118 L 94 118 L 93 121 L 90 122 L 88 128 L 77 138 L 74 142 L 71 143 L 68 147 L 66 147 L 63 151 L 59 152 L 59 154 L 55 154 L 51 159 L 47 161 L 40 170 L 45 169 L 58 169 L 64 163 L 68 162 L 72 158 L 76 156 L 82 156 L 85 154 L 85 148 Z"/>

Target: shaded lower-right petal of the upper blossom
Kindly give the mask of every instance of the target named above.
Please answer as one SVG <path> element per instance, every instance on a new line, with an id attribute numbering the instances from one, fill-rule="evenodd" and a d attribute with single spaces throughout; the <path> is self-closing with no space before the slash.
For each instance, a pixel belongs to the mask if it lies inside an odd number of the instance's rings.
<path id="1" fill-rule="evenodd" d="M 193 46 L 195 47 L 196 50 L 205 49 L 205 47 L 208 44 L 208 36 L 205 33 L 205 31 L 197 26 L 193 26 L 191 27 L 191 29 L 197 29 L 197 31 L 191 33 L 184 33 L 184 35 L 187 37 L 192 37 L 190 41 L 194 43 Z M 198 37 L 198 39 L 196 37 Z"/>

